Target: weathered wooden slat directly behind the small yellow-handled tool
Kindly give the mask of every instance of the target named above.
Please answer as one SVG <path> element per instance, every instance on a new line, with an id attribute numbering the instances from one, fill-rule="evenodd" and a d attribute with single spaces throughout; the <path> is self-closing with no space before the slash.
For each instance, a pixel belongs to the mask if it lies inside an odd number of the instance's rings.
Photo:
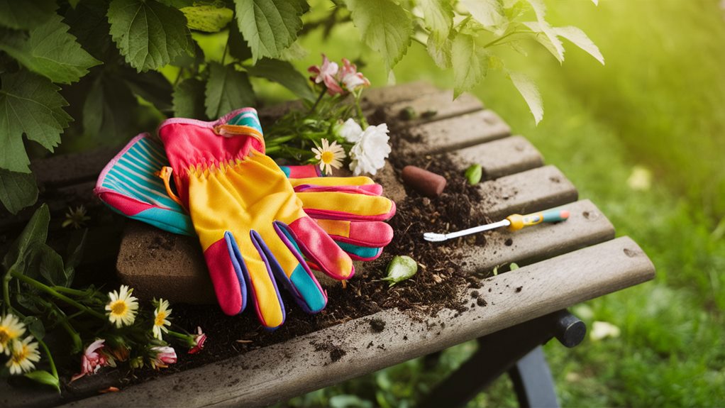
<path id="1" fill-rule="evenodd" d="M 479 217 L 492 220 L 512 212 L 526 214 L 576 201 L 579 193 L 554 166 L 537 167 L 525 172 L 488 180 L 479 185 L 484 198 L 476 209 Z"/>

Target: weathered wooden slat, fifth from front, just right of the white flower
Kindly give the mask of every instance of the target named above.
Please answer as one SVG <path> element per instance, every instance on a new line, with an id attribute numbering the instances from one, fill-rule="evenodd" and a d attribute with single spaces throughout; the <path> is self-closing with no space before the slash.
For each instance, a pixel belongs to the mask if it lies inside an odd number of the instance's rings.
<path id="1" fill-rule="evenodd" d="M 434 118 L 435 119 L 435 118 Z M 482 110 L 448 119 L 426 122 L 408 129 L 402 138 L 402 154 L 436 154 L 504 138 L 511 128 L 493 111 Z"/>

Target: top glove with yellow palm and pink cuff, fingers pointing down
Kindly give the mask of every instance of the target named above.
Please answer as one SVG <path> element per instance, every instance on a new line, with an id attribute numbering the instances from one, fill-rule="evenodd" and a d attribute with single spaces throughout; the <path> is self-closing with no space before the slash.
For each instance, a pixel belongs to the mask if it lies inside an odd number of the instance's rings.
<path id="1" fill-rule="evenodd" d="M 326 305 L 302 254 L 331 278 L 349 279 L 355 270 L 265 156 L 256 117 L 254 109 L 239 109 L 216 122 L 171 119 L 159 127 L 159 137 L 223 311 L 241 312 L 249 296 L 262 325 L 276 328 L 284 321 L 276 280 L 307 312 Z M 331 207 L 320 211 L 336 217 Z"/>

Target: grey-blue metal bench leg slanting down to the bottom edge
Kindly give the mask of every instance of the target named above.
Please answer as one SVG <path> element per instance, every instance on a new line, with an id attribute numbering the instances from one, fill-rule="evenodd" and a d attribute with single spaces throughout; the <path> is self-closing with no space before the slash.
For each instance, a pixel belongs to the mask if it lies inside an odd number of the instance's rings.
<path id="1" fill-rule="evenodd" d="M 559 407 L 554 379 L 541 346 L 518 360 L 508 375 L 513 382 L 519 407 Z"/>

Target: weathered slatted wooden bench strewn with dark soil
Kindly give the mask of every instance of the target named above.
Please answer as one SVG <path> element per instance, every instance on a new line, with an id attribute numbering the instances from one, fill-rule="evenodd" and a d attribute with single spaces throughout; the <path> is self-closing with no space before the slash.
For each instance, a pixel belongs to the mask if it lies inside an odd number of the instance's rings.
<path id="1" fill-rule="evenodd" d="M 402 122 L 400 112 L 409 107 L 430 113 Z M 277 111 L 268 112 L 278 115 Z M 563 205 L 571 212 L 570 219 L 516 233 L 494 230 L 486 233 L 486 246 L 469 245 L 456 250 L 461 270 L 470 273 L 490 272 L 510 262 L 521 265 L 518 270 L 481 281 L 486 307 L 443 309 L 423 320 L 398 309 L 383 309 L 221 362 L 163 375 L 121 393 L 94 396 L 70 405 L 152 406 L 158 401 L 185 407 L 268 405 L 476 338 L 491 347 L 481 348 L 463 371 L 434 391 L 427 399 L 429 406 L 441 401 L 461 404 L 512 367 L 518 372 L 518 384 L 524 385 L 520 396 L 535 394 L 535 390 L 531 391 L 534 388 L 526 388 L 524 367 L 531 361 L 534 364 L 526 367 L 542 367 L 537 346 L 554 336 L 573 346 L 584 336 L 581 322 L 566 313 L 567 307 L 653 278 L 653 264 L 637 243 L 628 237 L 615 238 L 613 225 L 595 204 L 578 200 L 576 188 L 565 175 L 554 166 L 544 165 L 541 154 L 529 141 L 512 136 L 508 125 L 472 96 L 452 101 L 450 91 L 421 83 L 407 84 L 370 90 L 365 112 L 374 115 L 376 121 L 402 123 L 410 130 L 418 141 L 401 141 L 399 146 L 405 154 L 450 153 L 462 172 L 473 163 L 481 165 L 484 181 L 478 188 L 487 200 L 479 207 L 481 219 L 497 220 L 513 213 Z M 88 166 L 94 167 L 96 174 L 107 157 L 99 162 L 100 166 Z M 44 185 L 52 177 L 42 167 L 38 164 L 36 171 Z M 387 165 L 383 172 L 389 176 L 380 179 L 386 195 L 397 201 L 405 198 L 405 189 L 394 177 L 392 166 Z M 78 183 L 78 188 L 80 194 L 85 194 L 92 183 Z M 165 243 L 165 249 L 159 249 L 159 240 Z M 152 264 L 154 267 L 149 267 Z M 127 222 L 117 270 L 121 280 L 137 288 L 141 296 L 174 301 L 176 293 L 197 291 L 206 293 L 199 296 L 200 303 L 214 301 L 208 278 L 199 274 L 204 262 L 194 238 Z M 173 283 L 154 284 L 159 275 L 165 274 L 174 275 Z M 144 288 L 152 288 L 153 293 L 144 293 Z M 471 299 L 474 290 L 482 289 L 460 288 L 451 296 Z M 373 320 L 384 322 L 384 328 L 373 330 Z M 318 341 L 333 344 L 343 352 L 317 358 Z M 491 349 L 496 351 L 484 351 Z M 186 391 L 169 391 L 181 385 Z M 455 392 L 451 392 L 452 385 L 457 386 Z"/>

